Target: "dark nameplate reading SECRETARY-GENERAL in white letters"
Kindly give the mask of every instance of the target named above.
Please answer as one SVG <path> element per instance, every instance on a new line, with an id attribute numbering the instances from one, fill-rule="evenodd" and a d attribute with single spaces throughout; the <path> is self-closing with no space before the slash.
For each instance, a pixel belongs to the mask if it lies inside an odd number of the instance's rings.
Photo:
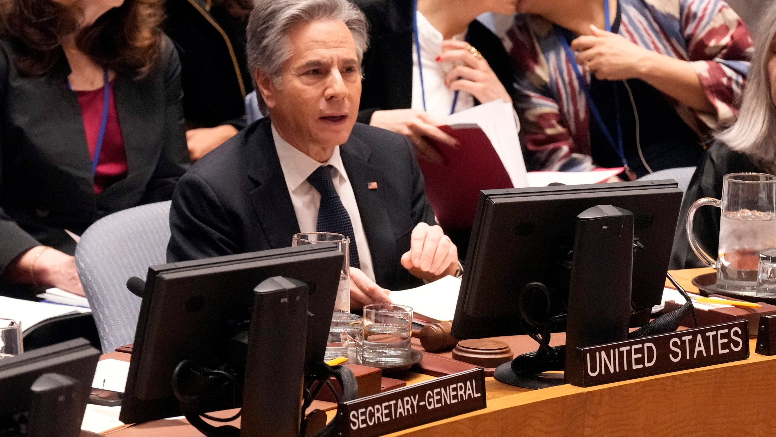
<path id="1" fill-rule="evenodd" d="M 338 405 L 338 432 L 372 437 L 485 407 L 485 371 L 472 369 Z"/>

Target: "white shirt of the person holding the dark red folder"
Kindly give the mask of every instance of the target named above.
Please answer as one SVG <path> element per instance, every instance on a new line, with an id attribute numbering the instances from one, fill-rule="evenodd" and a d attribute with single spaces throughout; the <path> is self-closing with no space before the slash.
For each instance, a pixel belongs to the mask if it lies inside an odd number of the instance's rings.
<path id="1" fill-rule="evenodd" d="M 417 14 L 417 39 L 421 43 L 421 62 L 423 65 L 423 86 L 421 87 L 421 72 L 417 64 L 417 45 L 412 39 L 412 109 L 423 110 L 423 96 L 426 97 L 426 112 L 435 120 L 450 115 L 452 101 L 456 92 L 445 86 L 445 75 L 452 69 L 451 64 L 442 65 L 436 58 L 442 54 L 442 33 L 428 23 L 428 19 Z M 456 35 L 453 39 L 463 40 L 466 32 Z M 425 93 L 424 93 L 425 90 Z M 474 98 L 471 94 L 461 91 L 458 93 L 456 112 L 469 109 L 474 106 Z"/>

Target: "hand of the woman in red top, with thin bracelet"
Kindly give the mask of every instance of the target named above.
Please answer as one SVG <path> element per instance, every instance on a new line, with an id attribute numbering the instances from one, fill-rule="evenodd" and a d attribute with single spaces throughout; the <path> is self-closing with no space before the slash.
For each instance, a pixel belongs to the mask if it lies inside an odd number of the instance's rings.
<path id="1" fill-rule="evenodd" d="M 4 274 L 12 282 L 58 287 L 66 292 L 84 295 L 84 288 L 75 268 L 75 257 L 56 249 L 35 246 L 18 257 L 16 262 L 9 264 L 5 270 Z"/>

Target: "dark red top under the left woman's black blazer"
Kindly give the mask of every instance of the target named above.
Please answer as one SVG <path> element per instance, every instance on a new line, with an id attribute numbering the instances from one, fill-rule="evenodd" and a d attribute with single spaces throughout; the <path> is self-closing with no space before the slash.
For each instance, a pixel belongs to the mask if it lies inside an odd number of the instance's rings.
<path id="1" fill-rule="evenodd" d="M 105 89 L 92 91 L 76 91 L 78 103 L 81 104 L 81 116 L 84 119 L 86 142 L 89 146 L 89 156 L 94 159 L 97 149 L 99 125 L 102 121 L 102 98 Z M 105 138 L 102 139 L 97 173 L 95 174 L 95 194 L 106 189 L 111 184 L 126 176 L 126 154 L 124 153 L 124 138 L 121 135 L 119 116 L 116 114 L 116 100 L 113 98 L 113 82 L 110 82 L 108 103 L 108 124 Z"/>

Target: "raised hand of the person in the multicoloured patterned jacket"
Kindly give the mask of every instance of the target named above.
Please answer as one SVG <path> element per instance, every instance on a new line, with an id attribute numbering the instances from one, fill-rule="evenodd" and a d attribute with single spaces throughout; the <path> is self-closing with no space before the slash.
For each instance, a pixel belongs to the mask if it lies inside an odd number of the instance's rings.
<path id="1" fill-rule="evenodd" d="M 598 80 L 641 79 L 644 66 L 660 54 L 633 44 L 617 33 L 591 26 L 592 36 L 578 37 L 571 41 L 571 48 L 578 51 L 577 63 L 583 65 Z"/>

